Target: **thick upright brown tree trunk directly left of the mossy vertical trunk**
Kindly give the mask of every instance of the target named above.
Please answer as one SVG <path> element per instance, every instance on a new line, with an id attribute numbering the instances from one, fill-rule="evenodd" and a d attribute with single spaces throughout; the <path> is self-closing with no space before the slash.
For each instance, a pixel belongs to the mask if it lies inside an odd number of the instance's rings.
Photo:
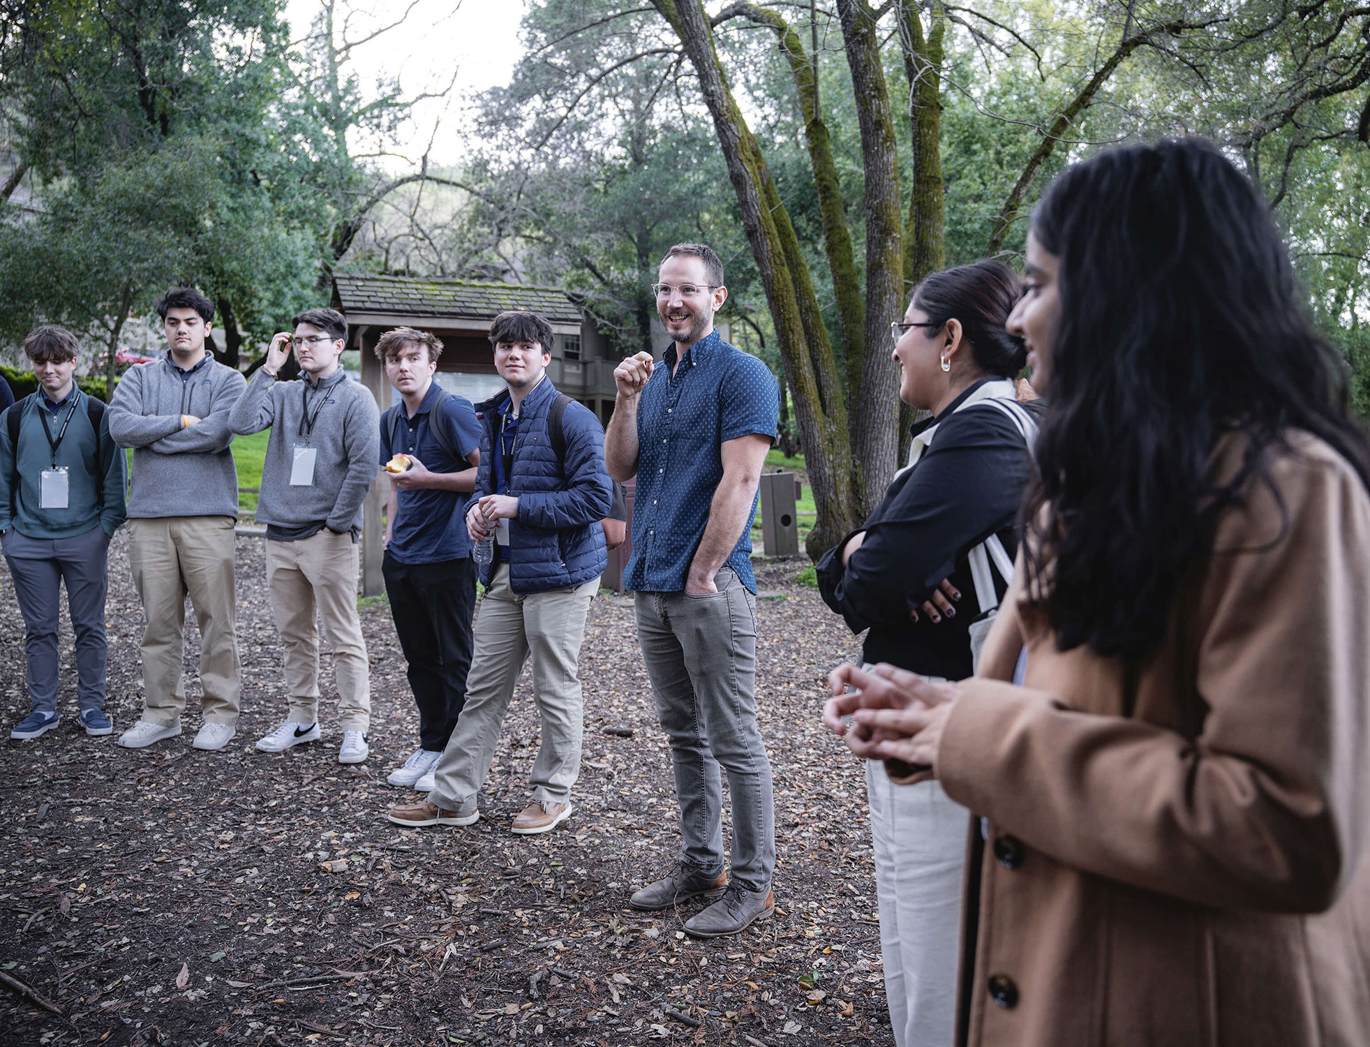
<path id="1" fill-rule="evenodd" d="M 889 322 L 903 315 L 904 229 L 899 199 L 899 144 L 880 56 L 875 12 L 866 0 L 837 0 L 847 64 L 860 125 L 866 171 L 866 359 L 862 366 L 856 458 L 862 514 L 880 504 L 899 448 L 899 381 Z"/>

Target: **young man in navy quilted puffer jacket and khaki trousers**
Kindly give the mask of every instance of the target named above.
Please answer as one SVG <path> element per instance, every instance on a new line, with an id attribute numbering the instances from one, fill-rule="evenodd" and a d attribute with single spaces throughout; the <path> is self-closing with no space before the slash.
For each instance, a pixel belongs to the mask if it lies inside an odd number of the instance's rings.
<path id="1" fill-rule="evenodd" d="M 599 421 L 547 378 L 552 338 L 551 325 L 533 312 L 501 312 L 490 325 L 495 369 L 508 389 L 477 404 L 481 465 L 466 521 L 473 540 L 496 534 L 496 554 L 481 571 L 485 596 L 466 704 L 433 770 L 427 802 L 390 810 L 399 825 L 480 818 L 475 798 L 529 655 L 543 737 L 533 796 L 512 832 L 548 832 L 571 814 L 584 711 L 577 666 L 590 598 L 608 566 L 600 521 L 610 513 L 612 484 Z"/>

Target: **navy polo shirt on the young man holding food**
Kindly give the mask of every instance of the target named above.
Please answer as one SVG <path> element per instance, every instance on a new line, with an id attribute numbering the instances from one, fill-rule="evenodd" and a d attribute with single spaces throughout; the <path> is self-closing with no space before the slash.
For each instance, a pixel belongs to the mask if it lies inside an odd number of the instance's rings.
<path id="1" fill-rule="evenodd" d="M 445 426 L 452 445 L 462 452 L 462 458 L 452 458 L 432 432 L 432 407 L 441 393 L 438 384 L 432 382 L 412 418 L 403 402 L 381 415 L 382 465 L 393 455 L 404 454 L 414 455 L 430 473 L 460 473 L 471 467 L 466 455 L 481 447 L 475 408 L 466 397 L 452 393 L 443 402 L 437 425 Z M 462 514 L 469 497 L 464 491 L 399 488 L 399 513 L 390 528 L 386 554 L 397 563 L 441 563 L 470 556 L 471 537 L 466 533 Z"/>

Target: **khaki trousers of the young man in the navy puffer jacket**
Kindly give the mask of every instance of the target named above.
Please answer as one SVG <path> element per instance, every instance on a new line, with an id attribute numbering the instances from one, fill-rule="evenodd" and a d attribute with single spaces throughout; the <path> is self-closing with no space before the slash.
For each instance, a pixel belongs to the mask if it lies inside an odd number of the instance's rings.
<path id="1" fill-rule="evenodd" d="M 495 571 L 475 614 L 466 704 L 433 769 L 437 787 L 429 802 L 460 814 L 475 810 L 514 684 L 530 654 L 533 700 L 543 726 L 537 761 L 529 774 L 533 799 L 544 807 L 570 799 L 571 785 L 581 774 L 585 713 L 578 674 L 581 640 L 596 592 L 599 578 L 574 589 L 516 593 L 510 589 L 508 566 L 500 565 Z"/>

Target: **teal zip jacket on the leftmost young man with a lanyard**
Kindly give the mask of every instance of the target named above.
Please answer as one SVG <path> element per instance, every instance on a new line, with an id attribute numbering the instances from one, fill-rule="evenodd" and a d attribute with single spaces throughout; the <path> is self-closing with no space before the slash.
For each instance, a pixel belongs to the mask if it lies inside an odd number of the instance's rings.
<path id="1" fill-rule="evenodd" d="M 41 392 L 26 396 L 11 411 L 19 411 L 18 470 L 10 426 L 0 414 L 0 532 L 14 528 L 27 539 L 70 539 L 99 525 L 114 534 L 127 517 L 123 500 L 123 454 L 110 436 L 110 410 L 100 415 L 99 434 L 90 428 L 86 395 L 71 391 L 56 418 L 48 414 L 56 437 L 67 411 L 73 410 L 67 434 L 58 445 L 56 463 L 67 467 L 67 508 L 40 508 L 41 474 L 52 467 L 52 449 L 42 429 Z M 18 486 L 15 473 L 18 471 Z"/>

